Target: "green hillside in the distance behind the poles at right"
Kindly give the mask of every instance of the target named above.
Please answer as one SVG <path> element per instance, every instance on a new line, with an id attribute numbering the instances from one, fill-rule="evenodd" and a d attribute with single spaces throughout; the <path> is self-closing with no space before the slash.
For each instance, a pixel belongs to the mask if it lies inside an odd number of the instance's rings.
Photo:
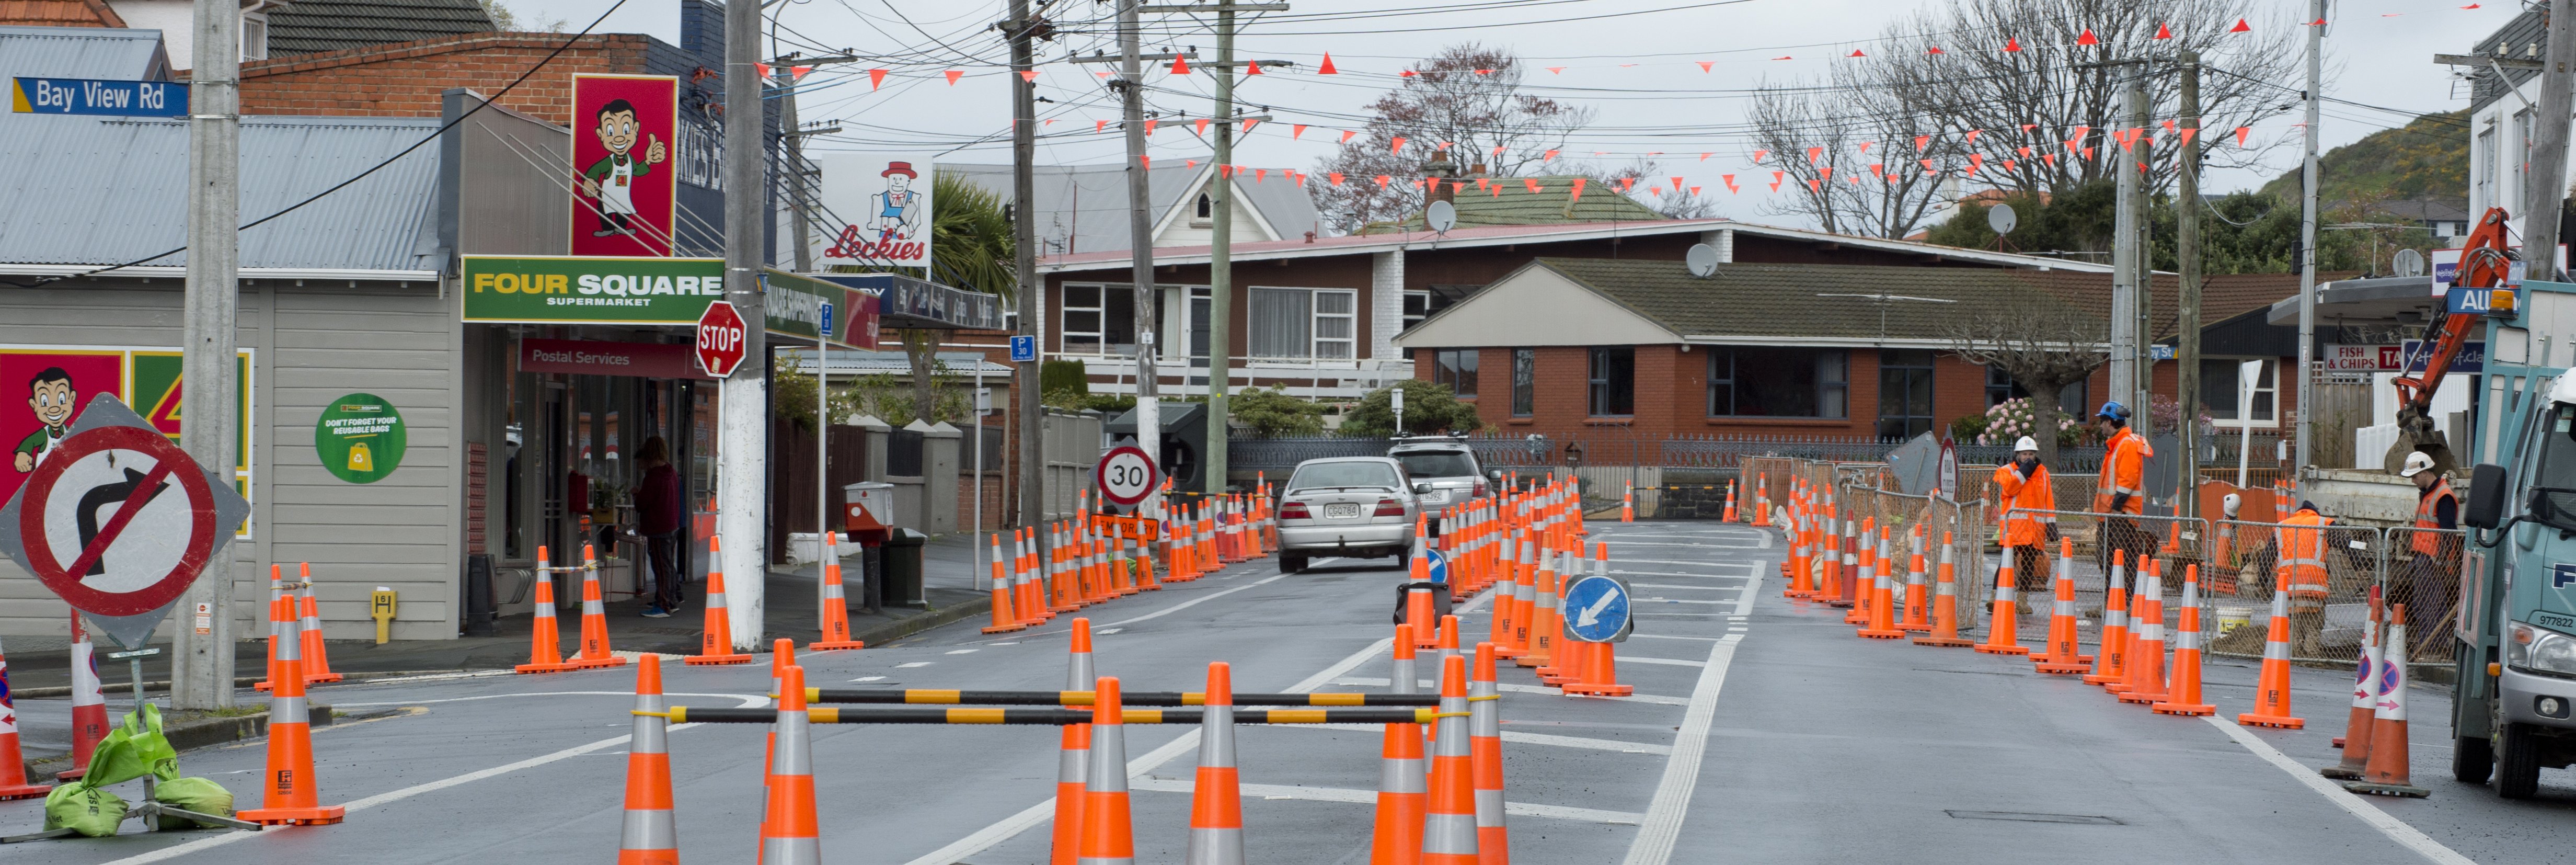
<path id="1" fill-rule="evenodd" d="M 2468 198 L 2468 113 L 2427 113 L 2329 149 L 2316 162 L 2324 201 Z M 2298 198 L 2298 170 L 2262 193 Z"/>

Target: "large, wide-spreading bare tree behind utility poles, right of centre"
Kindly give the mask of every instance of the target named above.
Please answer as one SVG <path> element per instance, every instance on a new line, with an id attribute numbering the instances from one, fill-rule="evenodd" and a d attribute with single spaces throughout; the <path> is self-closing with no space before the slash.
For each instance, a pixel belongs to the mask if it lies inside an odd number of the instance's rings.
<path id="1" fill-rule="evenodd" d="M 2239 18 L 2249 31 L 2228 33 Z M 1839 59 L 1821 82 L 1765 88 L 1754 147 L 1770 149 L 1770 170 L 1806 188 L 1793 214 L 1880 237 L 1909 234 L 1927 203 L 1953 196 L 1937 183 L 1906 188 L 1883 178 L 1857 185 L 1837 178 L 1839 193 L 1826 196 L 1826 183 L 1806 180 L 1819 180 L 1821 167 L 1850 178 L 1883 162 L 1904 175 L 2056 196 L 2110 178 L 2117 160 L 2143 147 L 2154 154 L 2141 160 L 2148 183 L 2161 188 L 2179 170 L 2172 157 L 2179 139 L 2161 126 L 2125 129 L 2128 82 L 2146 85 L 2151 116 L 2172 118 L 2179 111 L 2172 62 L 2197 49 L 2208 136 L 2192 147 L 2208 167 L 2254 165 L 2262 149 L 2236 147 L 2231 131 L 2295 106 L 2298 93 L 2275 82 L 2295 80 L 2298 33 L 2298 23 L 2262 0 L 1953 0 L 1886 26 L 1875 57 Z M 2002 39 L 2012 49 L 1994 44 Z M 1922 147 L 1917 136 L 1927 136 Z M 1886 160 L 1860 160 L 1860 142 L 1878 142 Z M 1808 147 L 1824 147 L 1821 160 L 1811 162 Z M 1883 188 L 1868 191 L 1870 180 Z"/>

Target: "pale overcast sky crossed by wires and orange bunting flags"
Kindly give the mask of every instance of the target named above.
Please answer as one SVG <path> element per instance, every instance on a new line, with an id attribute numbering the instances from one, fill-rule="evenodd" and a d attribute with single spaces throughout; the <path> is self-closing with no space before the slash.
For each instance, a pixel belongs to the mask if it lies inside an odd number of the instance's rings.
<path id="1" fill-rule="evenodd" d="M 567 31 L 608 10 L 616 0 L 505 0 L 528 18 L 567 21 Z M 1414 59 L 1455 41 L 1489 41 L 1517 51 L 1528 82 L 1546 85 L 1553 98 L 1579 100 L 1597 111 L 1595 124 L 1569 157 L 1623 165 L 1636 154 L 1664 152 L 1659 175 L 1682 175 L 1703 185 L 1721 216 L 1798 224 L 1772 214 L 1770 193 L 1744 183 L 1741 196 L 1726 196 L 1721 172 L 1752 175 L 1741 139 L 1672 134 L 1669 126 L 1721 126 L 1744 118 L 1744 98 L 1734 90 L 1762 80 L 1819 77 L 1832 57 L 1850 54 L 1847 41 L 1865 41 L 1893 18 L 1942 0 L 1296 0 L 1285 15 L 1252 18 L 1242 28 L 1239 51 L 1247 59 L 1291 59 L 1301 70 L 1262 75 L 1239 88 L 1249 106 L 1275 116 L 1236 144 L 1239 165 L 1314 170 L 1332 152 L 1342 129 L 1360 126 L 1363 106 L 1391 85 L 1391 75 Z M 2344 0 L 2334 3 L 2326 33 L 2326 93 L 2344 100 L 2398 108 L 2367 111 L 2326 106 L 2324 147 L 2360 139 L 2375 129 L 2398 126 L 2421 111 L 2465 108 L 2465 85 L 2447 67 L 2432 64 L 2434 51 L 2468 51 L 2470 44 L 2504 26 L 2517 0 L 2483 0 L 2463 10 L 2463 0 Z M 2306 0 L 2275 0 L 2272 21 L 2257 26 L 2295 26 Z M 1007 162 L 1007 59 L 989 23 L 1007 15 L 994 0 L 788 0 L 773 5 L 781 23 L 778 51 L 822 54 L 850 49 L 871 57 L 858 64 L 827 67 L 799 88 L 806 121 L 837 118 L 842 134 L 819 149 L 930 152 L 940 162 Z M 1056 0 L 1046 5 L 1072 33 L 1041 46 L 1038 93 L 1054 100 L 1038 106 L 1043 126 L 1041 165 L 1115 162 L 1123 144 L 1118 126 L 1092 131 L 1095 121 L 1115 121 L 1118 106 L 1095 70 L 1100 64 L 1064 62 L 1069 54 L 1113 51 L 1110 3 Z M 1149 51 L 1198 46 L 1213 57 L 1213 39 L 1185 15 L 1151 15 Z M 2202 21 L 2184 26 L 2218 26 Z M 603 33 L 652 33 L 680 39 L 677 0 L 626 0 Z M 1332 51 L 1342 75 L 1311 75 L 1314 62 Z M 1772 59 L 1793 57 L 1793 59 Z M 1700 62 L 1713 62 L 1708 72 Z M 871 88 L 871 67 L 886 70 Z M 1564 72 L 1546 72 L 1564 67 Z M 951 85 L 948 70 L 961 77 Z M 1154 75 L 1162 90 L 1149 108 L 1188 113 L 1211 111 L 1208 75 L 1172 80 Z M 2298 80 L 2282 85 L 2298 88 Z M 2287 139 L 2298 131 L 2295 113 L 2257 126 L 2259 139 Z M 1164 121 L 1172 124 L 1172 121 Z M 1293 124 L 1309 124 L 1291 139 Z M 1175 129 L 1177 126 L 1177 129 Z M 1151 139 L 1157 160 L 1206 160 L 1208 147 L 1188 121 L 1159 126 Z M 1659 131 L 1662 129 L 1662 131 Z M 1592 157 L 1592 152 L 1607 152 Z M 1716 157 L 1700 160 L 1700 152 Z M 2213 172 L 2208 188 L 2233 191 L 2259 185 L 2290 170 L 2295 147 L 2269 152 L 2262 170 Z M 1273 175 L 1275 178 L 1275 175 Z M 1278 183 L 1278 180 L 1270 180 Z M 1739 180 L 1741 183 L 1741 180 Z M 1641 188 L 1643 193 L 1643 188 Z M 2465 191 L 2463 191 L 2465 196 Z"/>

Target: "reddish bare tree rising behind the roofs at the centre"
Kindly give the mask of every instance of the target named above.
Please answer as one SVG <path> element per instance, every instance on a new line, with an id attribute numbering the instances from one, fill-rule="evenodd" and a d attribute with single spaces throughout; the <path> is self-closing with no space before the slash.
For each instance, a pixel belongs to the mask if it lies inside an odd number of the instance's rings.
<path id="1" fill-rule="evenodd" d="M 1414 64 L 1370 103 L 1360 134 L 1316 167 L 1327 183 L 1309 183 L 1306 191 L 1324 224 L 1355 232 L 1419 211 L 1425 191 L 1414 180 L 1435 157 L 1461 167 L 1481 162 L 1497 178 L 1538 175 L 1589 121 L 1592 108 L 1525 93 L 1520 57 L 1466 41 Z M 1401 149 L 1396 139 L 1404 139 Z M 1334 175 L 1342 183 L 1329 183 Z"/>

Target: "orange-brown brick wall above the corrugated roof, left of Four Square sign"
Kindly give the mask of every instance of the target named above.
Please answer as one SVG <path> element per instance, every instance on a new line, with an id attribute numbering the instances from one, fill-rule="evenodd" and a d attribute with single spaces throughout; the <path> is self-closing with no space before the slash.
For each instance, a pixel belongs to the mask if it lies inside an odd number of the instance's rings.
<path id="1" fill-rule="evenodd" d="M 546 59 L 564 36 L 474 33 L 296 54 L 242 64 L 242 113 L 438 116 L 438 93 L 492 95 Z M 500 106 L 569 124 L 574 72 L 647 72 L 652 36 L 595 33 L 574 41 Z"/>

